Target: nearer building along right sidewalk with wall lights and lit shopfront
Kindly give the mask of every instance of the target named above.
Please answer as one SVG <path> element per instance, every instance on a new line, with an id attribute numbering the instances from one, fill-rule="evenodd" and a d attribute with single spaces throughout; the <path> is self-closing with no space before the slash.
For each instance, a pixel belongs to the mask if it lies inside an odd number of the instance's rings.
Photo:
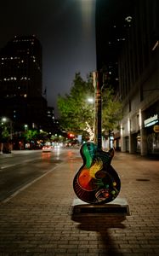
<path id="1" fill-rule="evenodd" d="M 123 152 L 159 154 L 159 3 L 135 1 L 118 60 L 123 102 L 115 143 Z"/>

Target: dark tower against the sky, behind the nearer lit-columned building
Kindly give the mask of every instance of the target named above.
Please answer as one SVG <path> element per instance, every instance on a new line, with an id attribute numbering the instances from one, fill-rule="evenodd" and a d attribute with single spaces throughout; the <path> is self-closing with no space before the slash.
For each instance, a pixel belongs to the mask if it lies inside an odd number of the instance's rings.
<path id="1" fill-rule="evenodd" d="M 131 26 L 132 1 L 96 1 L 97 70 L 106 75 L 115 90 L 119 89 L 118 55 Z"/>

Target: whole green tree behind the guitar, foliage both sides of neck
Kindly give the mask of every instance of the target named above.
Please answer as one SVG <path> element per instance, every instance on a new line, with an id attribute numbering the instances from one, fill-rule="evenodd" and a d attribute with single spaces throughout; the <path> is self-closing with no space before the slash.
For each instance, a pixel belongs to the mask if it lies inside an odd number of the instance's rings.
<path id="1" fill-rule="evenodd" d="M 88 103 L 88 98 L 94 98 L 93 78 L 90 74 L 87 81 L 75 74 L 70 95 L 58 96 L 60 125 L 65 131 L 87 135 L 88 129 L 94 128 L 94 105 Z M 102 130 L 112 131 L 122 119 L 122 103 L 119 102 L 111 86 L 102 88 Z"/>

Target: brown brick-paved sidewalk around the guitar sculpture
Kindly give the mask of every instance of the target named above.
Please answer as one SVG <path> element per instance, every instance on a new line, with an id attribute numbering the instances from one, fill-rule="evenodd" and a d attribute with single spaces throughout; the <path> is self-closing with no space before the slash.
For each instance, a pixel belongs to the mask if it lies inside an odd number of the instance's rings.
<path id="1" fill-rule="evenodd" d="M 76 152 L 78 152 L 76 150 Z M 159 255 L 159 161 L 117 153 L 130 216 L 72 218 L 78 154 L 0 205 L 1 256 Z"/>

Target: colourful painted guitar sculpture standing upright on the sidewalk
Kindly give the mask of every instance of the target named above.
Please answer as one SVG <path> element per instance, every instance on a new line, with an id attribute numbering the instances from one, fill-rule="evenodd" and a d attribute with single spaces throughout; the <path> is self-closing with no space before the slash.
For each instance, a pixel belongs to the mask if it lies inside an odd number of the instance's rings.
<path id="1" fill-rule="evenodd" d="M 79 199 L 90 204 L 113 201 L 120 192 L 121 182 L 111 166 L 114 149 L 101 149 L 101 85 L 102 75 L 95 72 L 95 129 L 94 143 L 84 143 L 80 149 L 83 165 L 73 180 L 73 188 Z"/>

